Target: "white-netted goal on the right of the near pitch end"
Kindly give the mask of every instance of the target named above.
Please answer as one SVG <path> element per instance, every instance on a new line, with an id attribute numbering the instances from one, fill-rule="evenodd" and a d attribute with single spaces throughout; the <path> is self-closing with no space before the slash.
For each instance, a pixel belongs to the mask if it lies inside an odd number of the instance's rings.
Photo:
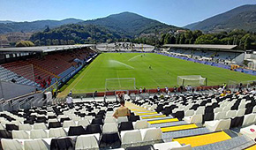
<path id="1" fill-rule="evenodd" d="M 201 77 L 200 75 L 191 75 L 191 76 L 177 76 L 177 85 L 178 86 L 203 86 L 206 85 L 206 78 Z"/>

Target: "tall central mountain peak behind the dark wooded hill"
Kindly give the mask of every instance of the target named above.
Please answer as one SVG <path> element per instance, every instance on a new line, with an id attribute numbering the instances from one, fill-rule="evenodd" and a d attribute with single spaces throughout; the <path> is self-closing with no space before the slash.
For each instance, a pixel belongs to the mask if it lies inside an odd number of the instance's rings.
<path id="1" fill-rule="evenodd" d="M 122 12 L 109 15 L 102 19 L 93 19 L 80 22 L 81 25 L 100 25 L 111 30 L 124 33 L 128 36 L 139 34 L 152 34 L 155 28 L 157 32 L 169 32 L 170 30 L 181 29 L 177 26 L 170 26 L 154 19 L 148 19 L 132 12 Z"/>

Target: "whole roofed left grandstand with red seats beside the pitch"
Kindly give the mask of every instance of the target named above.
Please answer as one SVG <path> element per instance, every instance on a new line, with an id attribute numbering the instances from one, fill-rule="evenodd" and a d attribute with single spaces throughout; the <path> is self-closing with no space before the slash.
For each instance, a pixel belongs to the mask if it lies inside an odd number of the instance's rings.
<path id="1" fill-rule="evenodd" d="M 0 79 L 2 83 L 25 85 L 24 88 L 33 86 L 37 90 L 45 90 L 55 84 L 61 86 L 96 55 L 91 47 L 69 45 L 0 49 Z M 27 88 L 26 93 L 34 91 L 32 89 Z M 2 97 L 12 98 L 4 95 L 3 90 Z"/>

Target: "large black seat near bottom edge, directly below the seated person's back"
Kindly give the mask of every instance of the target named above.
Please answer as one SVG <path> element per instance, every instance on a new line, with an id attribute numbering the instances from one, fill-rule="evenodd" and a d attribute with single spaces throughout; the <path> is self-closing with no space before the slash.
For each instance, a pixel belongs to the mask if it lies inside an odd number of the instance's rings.
<path id="1" fill-rule="evenodd" d="M 121 139 L 118 132 L 114 133 L 102 133 L 100 137 L 101 148 L 118 148 L 121 146 Z"/>

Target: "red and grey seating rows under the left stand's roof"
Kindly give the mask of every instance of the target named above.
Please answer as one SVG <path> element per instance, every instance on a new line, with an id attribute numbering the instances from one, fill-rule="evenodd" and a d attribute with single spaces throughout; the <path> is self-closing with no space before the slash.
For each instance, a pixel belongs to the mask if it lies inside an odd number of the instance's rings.
<path id="1" fill-rule="evenodd" d="M 74 51 L 61 51 L 49 53 L 49 55 L 37 58 L 27 58 L 26 60 L 13 61 L 1 65 L 2 80 L 12 81 L 18 84 L 29 86 L 41 86 L 44 81 L 51 82 L 64 71 L 72 71 L 71 68 L 77 67 L 78 63 L 74 59 L 79 59 L 80 62 L 87 60 L 94 55 L 92 49 L 79 49 Z M 48 86 L 55 82 L 48 83 Z"/>

